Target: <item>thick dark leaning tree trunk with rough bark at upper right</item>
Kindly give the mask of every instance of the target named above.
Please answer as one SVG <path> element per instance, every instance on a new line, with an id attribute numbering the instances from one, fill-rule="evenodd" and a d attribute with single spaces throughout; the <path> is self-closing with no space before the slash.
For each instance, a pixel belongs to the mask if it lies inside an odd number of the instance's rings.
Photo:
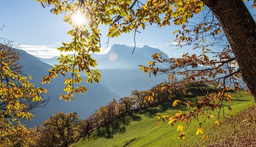
<path id="1" fill-rule="evenodd" d="M 256 102 L 256 25 L 242 0 L 202 0 L 221 23 Z"/>

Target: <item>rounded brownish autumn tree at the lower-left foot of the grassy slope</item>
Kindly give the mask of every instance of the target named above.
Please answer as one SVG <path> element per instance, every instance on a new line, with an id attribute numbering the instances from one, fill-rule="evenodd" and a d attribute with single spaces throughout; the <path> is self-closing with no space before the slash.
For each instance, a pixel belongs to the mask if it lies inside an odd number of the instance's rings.
<path id="1" fill-rule="evenodd" d="M 58 112 L 43 122 L 39 128 L 42 134 L 39 145 L 41 147 L 68 147 L 79 136 L 79 116 L 76 113 Z"/>

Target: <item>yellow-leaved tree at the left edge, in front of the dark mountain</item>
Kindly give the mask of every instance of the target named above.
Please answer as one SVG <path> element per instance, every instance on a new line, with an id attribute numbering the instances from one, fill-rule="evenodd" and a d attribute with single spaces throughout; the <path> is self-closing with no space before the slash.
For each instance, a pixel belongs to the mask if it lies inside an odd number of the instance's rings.
<path id="1" fill-rule="evenodd" d="M 49 99 L 42 99 L 42 93 L 47 91 L 35 87 L 24 75 L 19 65 L 19 52 L 15 50 L 13 41 L 0 38 L 0 142 L 19 140 L 20 136 L 29 132 L 20 124 L 19 119 L 34 117 L 31 112 L 37 107 L 44 107 Z M 15 135 L 16 134 L 16 135 Z M 9 139 L 8 139 L 9 138 Z M 19 142 L 19 141 L 18 141 Z M 23 143 L 22 140 L 20 140 Z M 9 146 L 12 146 L 11 144 Z M 19 145 L 14 145 L 19 146 Z"/>

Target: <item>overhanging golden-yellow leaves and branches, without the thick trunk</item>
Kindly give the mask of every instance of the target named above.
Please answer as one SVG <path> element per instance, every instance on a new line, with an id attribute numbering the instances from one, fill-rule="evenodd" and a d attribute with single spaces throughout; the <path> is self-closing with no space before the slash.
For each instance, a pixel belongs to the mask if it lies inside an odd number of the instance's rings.
<path id="1" fill-rule="evenodd" d="M 173 32 L 176 34 L 175 41 L 177 48 L 189 46 L 197 50 L 199 54 L 184 54 L 181 58 L 164 58 L 161 54 L 152 55 L 153 61 L 148 62 L 148 66 L 141 66 L 145 73 L 153 75 L 167 74 L 169 79 L 173 75 L 183 75 L 184 78 L 176 84 L 161 87 L 162 90 L 168 89 L 170 95 L 173 90 L 186 92 L 186 86 L 207 84 L 215 87 L 215 90 L 207 93 L 206 96 L 199 97 L 198 101 L 189 100 L 174 101 L 173 107 L 179 103 L 184 103 L 188 107 L 195 108 L 188 112 L 177 113 L 175 116 L 168 116 L 172 123 L 186 122 L 201 115 L 207 115 L 207 110 L 219 111 L 224 102 L 232 103 L 230 99 L 233 94 L 230 90 L 238 92 L 244 90 L 241 87 L 241 71 L 237 66 L 229 43 L 225 40 L 221 24 L 207 7 L 204 6 L 205 0 L 147 0 L 145 3 L 139 0 L 37 0 L 43 7 L 52 6 L 51 12 L 54 14 L 65 14 L 64 22 L 73 26 L 68 32 L 73 37 L 71 43 L 63 43 L 63 47 L 58 48 L 61 52 L 74 52 L 74 56 L 63 56 L 58 59 L 59 65 L 49 70 L 49 75 L 42 79 L 43 83 L 50 82 L 58 74 L 65 75 L 72 72 L 71 77 L 65 79 L 64 91 L 60 94 L 60 99 L 72 100 L 73 94 L 85 93 L 87 89 L 83 86 L 75 86 L 83 81 L 79 73 L 87 75 L 87 82 L 99 82 L 100 74 L 98 70 L 91 70 L 95 67 L 96 61 L 90 56 L 89 52 L 99 52 L 101 47 L 101 33 L 98 29 L 100 24 L 109 25 L 107 37 L 117 37 L 121 33 L 139 32 L 138 29 L 145 29 L 146 25 L 157 24 L 159 27 L 170 25 L 181 25 L 181 30 Z M 192 17 L 202 14 L 202 18 L 192 22 Z M 80 13 L 87 19 L 88 25 L 78 25 L 72 17 Z M 224 40 L 224 41 L 223 41 Z M 136 42 L 135 42 L 136 44 Z M 220 51 L 212 50 L 212 47 L 222 48 Z M 134 48 L 135 49 L 135 48 Z M 159 68 L 156 63 L 168 65 L 168 68 Z M 249 90 L 247 90 L 250 93 Z M 154 93 L 151 93 L 154 95 Z M 134 91 L 134 97 L 142 97 L 139 105 L 143 104 L 145 97 Z M 152 100 L 151 95 L 146 96 L 147 100 Z M 232 111 L 231 108 L 229 108 Z M 161 117 L 161 116 L 159 116 Z M 221 122 L 218 122 L 221 123 Z M 181 129 L 178 128 L 179 130 Z M 202 129 L 198 129 L 202 133 Z M 183 133 L 180 138 L 184 138 Z"/>

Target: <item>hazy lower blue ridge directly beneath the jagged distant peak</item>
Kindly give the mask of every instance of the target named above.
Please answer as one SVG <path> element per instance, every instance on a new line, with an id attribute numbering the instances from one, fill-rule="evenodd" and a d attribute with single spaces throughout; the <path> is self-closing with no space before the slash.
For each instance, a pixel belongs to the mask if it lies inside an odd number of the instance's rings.
<path id="1" fill-rule="evenodd" d="M 167 79 L 166 75 L 143 75 L 138 69 L 100 69 L 99 72 L 102 74 L 100 83 L 121 97 L 129 96 L 132 90 L 147 90 Z"/>

